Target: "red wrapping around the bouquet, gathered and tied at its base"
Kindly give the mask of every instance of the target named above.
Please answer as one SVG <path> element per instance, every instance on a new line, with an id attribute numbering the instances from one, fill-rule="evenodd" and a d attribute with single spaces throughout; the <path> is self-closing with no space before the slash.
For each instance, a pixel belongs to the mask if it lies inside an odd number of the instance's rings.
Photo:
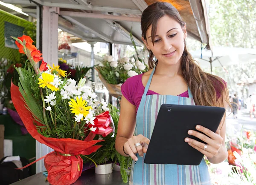
<path id="1" fill-rule="evenodd" d="M 96 143 L 103 140 L 92 140 L 95 134 L 90 134 L 84 141 L 71 138 L 50 138 L 44 137 L 36 130 L 36 122 L 31 112 L 25 107 L 25 102 L 21 99 L 19 88 L 12 83 L 11 85 L 12 102 L 20 115 L 29 134 L 38 142 L 41 142 L 55 151 L 50 152 L 44 159 L 44 165 L 48 171 L 48 182 L 52 185 L 70 185 L 76 182 L 82 172 L 83 160 L 79 156 L 89 155 L 96 152 L 101 145 Z"/>

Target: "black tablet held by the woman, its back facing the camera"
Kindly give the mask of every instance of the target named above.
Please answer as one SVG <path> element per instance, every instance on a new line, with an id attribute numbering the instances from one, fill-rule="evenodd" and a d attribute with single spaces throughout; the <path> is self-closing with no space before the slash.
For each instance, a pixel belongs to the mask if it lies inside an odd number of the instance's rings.
<path id="1" fill-rule="evenodd" d="M 225 109 L 220 107 L 163 104 L 157 115 L 144 162 L 147 164 L 199 165 L 204 154 L 185 142 L 202 125 L 216 132 Z M 205 142 L 203 142 L 205 143 Z"/>

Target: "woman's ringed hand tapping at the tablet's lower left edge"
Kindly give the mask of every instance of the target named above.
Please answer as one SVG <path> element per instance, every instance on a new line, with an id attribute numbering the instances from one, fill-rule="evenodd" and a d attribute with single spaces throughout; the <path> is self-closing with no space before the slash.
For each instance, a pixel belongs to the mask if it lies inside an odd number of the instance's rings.
<path id="1" fill-rule="evenodd" d="M 135 154 L 139 154 L 140 157 L 143 157 L 143 154 L 147 152 L 149 139 L 143 135 L 133 136 L 128 139 L 127 142 L 124 144 L 124 151 L 126 154 L 129 154 L 132 159 L 135 161 L 138 160 Z M 135 144 L 140 142 L 141 146 L 135 147 Z"/>

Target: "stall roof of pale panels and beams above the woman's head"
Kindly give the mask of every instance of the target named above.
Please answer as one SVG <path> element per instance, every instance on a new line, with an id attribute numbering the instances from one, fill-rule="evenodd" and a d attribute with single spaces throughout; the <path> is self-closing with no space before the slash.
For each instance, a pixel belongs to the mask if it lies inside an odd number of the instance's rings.
<path id="1" fill-rule="evenodd" d="M 151 3 L 160 0 L 3 0 L 21 6 L 36 16 L 36 6 L 60 7 L 58 26 L 87 42 L 131 44 L 130 31 L 137 45 L 141 40 L 140 16 Z M 186 21 L 189 37 L 209 44 L 205 1 L 162 0 L 172 3 Z"/>

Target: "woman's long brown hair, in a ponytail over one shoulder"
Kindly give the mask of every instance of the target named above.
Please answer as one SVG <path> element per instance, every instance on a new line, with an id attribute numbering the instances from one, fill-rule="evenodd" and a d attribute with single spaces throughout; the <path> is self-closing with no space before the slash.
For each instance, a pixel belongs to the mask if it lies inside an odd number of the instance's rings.
<path id="1" fill-rule="evenodd" d="M 154 45 L 154 37 L 157 31 L 157 22 L 163 16 L 169 16 L 184 28 L 185 22 L 180 17 L 179 12 L 170 3 L 157 2 L 148 6 L 141 16 L 142 37 L 146 40 L 146 32 L 150 26 L 151 37 Z M 185 43 L 185 41 L 184 41 Z M 149 68 L 153 68 L 158 63 L 154 61 L 154 54 L 149 51 Z M 196 64 L 191 54 L 187 51 L 186 44 L 181 58 L 181 69 L 184 79 L 188 84 L 196 105 L 225 107 L 225 102 L 231 107 L 228 98 L 228 89 L 224 80 L 215 75 L 206 73 Z M 216 93 L 218 92 L 218 94 Z M 218 104 L 217 100 L 220 98 Z M 225 119 L 225 117 L 224 117 Z"/>

